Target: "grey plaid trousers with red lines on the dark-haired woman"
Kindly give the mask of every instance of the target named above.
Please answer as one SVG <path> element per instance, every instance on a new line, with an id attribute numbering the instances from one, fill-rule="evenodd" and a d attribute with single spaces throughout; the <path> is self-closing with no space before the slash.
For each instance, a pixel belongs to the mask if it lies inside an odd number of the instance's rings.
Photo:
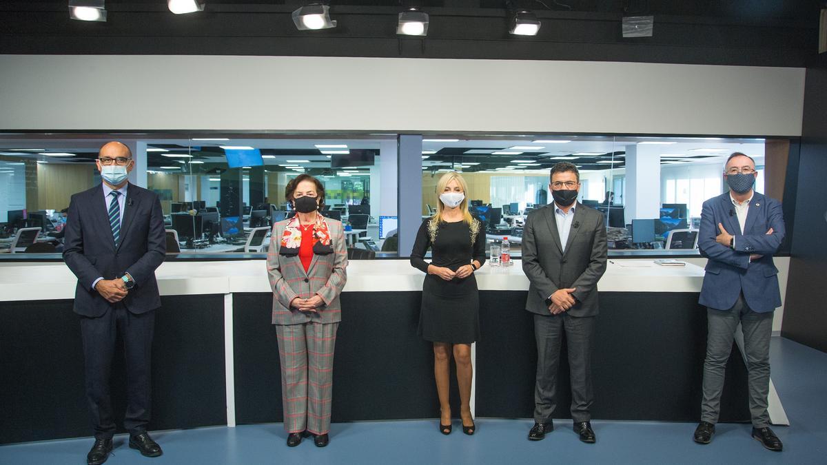
<path id="1" fill-rule="evenodd" d="M 276 324 L 281 361 L 284 429 L 330 431 L 333 396 L 333 348 L 338 323 Z"/>

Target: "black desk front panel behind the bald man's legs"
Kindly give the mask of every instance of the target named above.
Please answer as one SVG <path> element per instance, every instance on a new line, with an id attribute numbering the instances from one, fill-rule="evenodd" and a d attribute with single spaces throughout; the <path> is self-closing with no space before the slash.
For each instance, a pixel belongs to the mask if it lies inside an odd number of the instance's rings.
<path id="1" fill-rule="evenodd" d="M 222 295 L 161 297 L 152 346 L 151 429 L 227 423 L 223 302 Z M 127 393 L 120 338 L 117 344 L 112 404 L 120 425 Z M 0 303 L 0 373 L 0 443 L 93 434 L 72 300 Z"/>

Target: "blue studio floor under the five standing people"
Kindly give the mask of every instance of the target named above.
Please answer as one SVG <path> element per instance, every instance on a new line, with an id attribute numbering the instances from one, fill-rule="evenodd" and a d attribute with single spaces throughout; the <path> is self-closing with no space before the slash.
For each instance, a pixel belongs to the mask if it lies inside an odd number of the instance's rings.
<path id="1" fill-rule="evenodd" d="M 443 436 L 436 420 L 333 424 L 331 443 L 316 448 L 312 439 L 297 448 L 284 445 L 281 424 L 213 427 L 153 433 L 164 448 L 160 458 L 143 458 L 117 436 L 112 464 L 257 463 L 827 463 L 827 353 L 773 338 L 772 380 L 790 427 L 774 431 L 784 452 L 773 453 L 750 438 L 748 424 L 719 424 L 715 439 L 692 442 L 696 424 L 594 421 L 596 444 L 584 444 L 571 420 L 555 422 L 543 441 L 529 442 L 528 419 L 477 419 L 478 431 Z M 85 463 L 92 440 L 67 439 L 0 447 L 0 463 Z"/>

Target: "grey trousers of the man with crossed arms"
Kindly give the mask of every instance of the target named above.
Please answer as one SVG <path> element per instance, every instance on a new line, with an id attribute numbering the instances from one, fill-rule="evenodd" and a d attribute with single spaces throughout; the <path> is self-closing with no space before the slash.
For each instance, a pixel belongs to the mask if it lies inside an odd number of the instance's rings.
<path id="1" fill-rule="evenodd" d="M 755 428 L 770 424 L 767 413 L 767 395 L 770 389 L 770 336 L 772 312 L 757 313 L 739 296 L 728 310 L 706 309 L 709 335 L 706 339 L 704 361 L 704 398 L 700 403 L 700 419 L 711 424 L 718 422 L 721 391 L 724 389 L 724 368 L 732 351 L 735 329 L 741 324 L 743 350 L 747 361 L 749 413 Z"/>

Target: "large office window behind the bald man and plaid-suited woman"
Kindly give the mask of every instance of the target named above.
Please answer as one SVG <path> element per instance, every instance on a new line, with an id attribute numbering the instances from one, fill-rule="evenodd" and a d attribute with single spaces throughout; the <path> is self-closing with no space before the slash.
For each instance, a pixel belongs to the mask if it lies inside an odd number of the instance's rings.
<path id="1" fill-rule="evenodd" d="M 170 252 L 263 252 L 267 236 L 255 235 L 256 228 L 269 229 L 294 214 L 284 189 L 301 173 L 322 181 L 323 214 L 352 230 L 349 247 L 396 252 L 395 242 L 386 241 L 394 228 L 380 231 L 380 224 L 390 227 L 388 218 L 397 217 L 395 196 L 385 204 L 380 196 L 382 160 L 397 156 L 394 139 L 197 134 L 0 137 L 0 252 L 9 252 L 15 232 L 26 227 L 41 228 L 37 241 L 60 252 L 61 210 L 72 194 L 102 182 L 94 161 L 100 146 L 111 140 L 133 152 L 131 182 L 159 195 Z M 396 184 L 395 179 L 385 183 Z"/>

